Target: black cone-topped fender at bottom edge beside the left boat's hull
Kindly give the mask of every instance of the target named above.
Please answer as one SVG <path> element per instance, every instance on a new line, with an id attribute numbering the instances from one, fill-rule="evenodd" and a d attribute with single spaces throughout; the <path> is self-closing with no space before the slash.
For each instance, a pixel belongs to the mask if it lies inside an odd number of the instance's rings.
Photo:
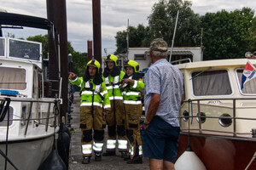
<path id="1" fill-rule="evenodd" d="M 58 151 L 53 149 L 38 170 L 67 170 L 67 167 L 58 155 Z"/>

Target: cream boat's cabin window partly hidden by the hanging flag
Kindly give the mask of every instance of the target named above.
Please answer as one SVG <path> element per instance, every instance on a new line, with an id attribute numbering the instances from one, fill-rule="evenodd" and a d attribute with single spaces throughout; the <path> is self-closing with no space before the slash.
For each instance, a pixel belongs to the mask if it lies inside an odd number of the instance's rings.
<path id="1" fill-rule="evenodd" d="M 241 88 L 241 75 L 242 75 L 243 69 L 237 69 L 236 75 L 238 77 L 238 87 Z M 241 90 L 242 94 L 256 94 L 256 78 L 252 79 L 251 81 L 245 83 L 243 85 L 243 88 Z"/>

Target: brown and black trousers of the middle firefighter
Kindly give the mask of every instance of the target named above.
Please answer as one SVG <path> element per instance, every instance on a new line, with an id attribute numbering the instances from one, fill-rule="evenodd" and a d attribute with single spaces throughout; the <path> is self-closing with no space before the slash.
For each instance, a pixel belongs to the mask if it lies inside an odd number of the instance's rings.
<path id="1" fill-rule="evenodd" d="M 113 102 L 114 101 L 114 102 Z M 119 151 L 127 151 L 127 137 L 125 135 L 125 111 L 122 99 L 110 100 L 111 111 L 106 116 L 108 124 L 107 151 L 115 151 L 118 137 Z"/>

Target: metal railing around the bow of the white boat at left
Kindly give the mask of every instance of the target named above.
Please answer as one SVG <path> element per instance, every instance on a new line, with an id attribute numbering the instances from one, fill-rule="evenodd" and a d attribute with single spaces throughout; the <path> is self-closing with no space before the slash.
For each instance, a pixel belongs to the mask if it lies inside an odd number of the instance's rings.
<path id="1" fill-rule="evenodd" d="M 41 100 L 41 99 L 10 99 L 10 98 L 0 98 L 0 102 L 1 104 L 6 102 L 6 101 L 10 101 L 12 102 L 26 102 L 28 103 L 28 111 L 27 111 L 27 117 L 26 119 L 24 119 L 24 117 L 20 117 L 19 118 L 12 118 L 9 119 L 9 122 L 25 122 L 25 131 L 24 131 L 24 135 L 26 136 L 27 130 L 28 130 L 28 125 L 30 122 L 32 122 L 32 125 L 34 127 L 35 122 L 39 124 L 39 122 L 44 122 L 44 131 L 48 132 L 48 127 L 49 127 L 49 120 L 53 119 L 54 123 L 53 126 L 56 127 L 56 125 L 58 124 L 57 121 L 59 122 L 60 120 L 60 103 L 61 100 L 60 99 L 50 99 L 50 100 Z M 47 112 L 46 112 L 46 116 L 45 117 L 36 117 L 36 118 L 32 118 L 32 105 L 36 103 L 41 103 L 41 104 L 46 104 L 47 105 Z M 53 106 L 53 115 L 50 116 L 50 109 L 51 109 L 51 105 Z M 1 105 L 2 106 L 2 105 Z M 4 107 L 4 105 L 3 105 Z M 4 109 L 4 108 L 3 108 Z M 2 110 L 2 108 L 1 108 Z M 7 114 L 10 114 L 9 112 Z M 13 113 L 14 114 L 14 113 Z M 21 115 L 21 114 L 20 114 Z M 3 121 L 8 121 L 8 120 L 3 120 Z"/>

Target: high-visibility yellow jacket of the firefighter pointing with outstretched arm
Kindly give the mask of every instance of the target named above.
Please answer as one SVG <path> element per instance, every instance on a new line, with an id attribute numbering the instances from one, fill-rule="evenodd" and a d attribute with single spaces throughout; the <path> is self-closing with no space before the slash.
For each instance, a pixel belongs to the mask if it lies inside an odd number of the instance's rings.
<path id="1" fill-rule="evenodd" d="M 111 110 L 110 100 L 108 98 L 108 90 L 104 82 L 96 85 L 93 82 L 93 79 L 84 82 L 83 77 L 77 77 L 75 80 L 69 80 L 69 82 L 73 85 L 79 86 L 81 89 L 80 106 L 103 106 L 105 110 Z"/>

